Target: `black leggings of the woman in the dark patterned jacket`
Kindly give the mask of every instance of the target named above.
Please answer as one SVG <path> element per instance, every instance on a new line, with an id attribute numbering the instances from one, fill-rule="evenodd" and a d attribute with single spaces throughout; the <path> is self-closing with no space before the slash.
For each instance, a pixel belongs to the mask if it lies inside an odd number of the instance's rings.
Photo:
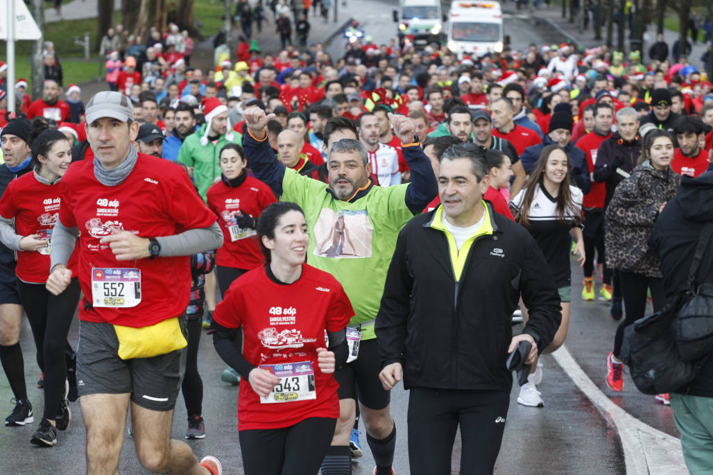
<path id="1" fill-rule="evenodd" d="M 646 313 L 647 289 L 651 289 L 651 298 L 654 301 L 654 312 L 658 312 L 666 305 L 666 289 L 661 277 L 646 277 L 634 272 L 618 271 L 621 281 L 622 296 L 624 297 L 624 320 L 617 327 L 614 338 L 614 356 L 619 357 L 624 339 L 624 329 L 636 320 L 644 317 Z"/>

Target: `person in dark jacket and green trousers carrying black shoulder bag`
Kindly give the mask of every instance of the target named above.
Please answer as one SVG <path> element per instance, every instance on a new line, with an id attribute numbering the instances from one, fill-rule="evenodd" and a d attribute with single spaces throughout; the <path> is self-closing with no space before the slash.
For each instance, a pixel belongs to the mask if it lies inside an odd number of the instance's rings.
<path id="1" fill-rule="evenodd" d="M 704 226 L 713 221 L 713 165 L 697 178 L 684 176 L 677 195 L 656 220 L 649 245 L 658 252 L 668 297 L 687 287 L 688 270 Z M 708 245 L 703 262 L 709 262 Z M 704 267 L 704 266 L 702 266 Z M 701 268 L 697 282 L 709 269 Z M 709 473 L 713 460 L 713 358 L 687 388 L 670 394 L 674 419 L 681 433 L 686 465 L 692 474 Z"/>

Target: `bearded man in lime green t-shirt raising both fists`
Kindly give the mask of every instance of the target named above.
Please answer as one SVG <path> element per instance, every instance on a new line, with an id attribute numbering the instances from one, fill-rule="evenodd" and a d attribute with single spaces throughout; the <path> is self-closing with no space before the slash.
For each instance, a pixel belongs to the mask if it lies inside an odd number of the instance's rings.
<path id="1" fill-rule="evenodd" d="M 265 116 L 260 108 L 243 114 L 248 128 L 243 145 L 248 165 L 255 176 L 270 185 L 281 200 L 295 200 L 304 205 L 310 234 L 323 240 L 344 211 L 347 226 L 358 248 L 349 257 L 327 257 L 309 246 L 308 261 L 332 272 L 352 295 L 356 316 L 350 321 L 361 329 L 359 357 L 337 372 L 340 418 L 327 451 L 322 474 L 349 474 L 349 436 L 354 428 L 358 397 L 361 418 L 366 426 L 366 440 L 376 462 L 376 475 L 391 474 L 396 444 L 396 426 L 389 412 L 389 392 L 379 384 L 379 355 L 374 340 L 373 320 L 383 293 L 386 265 L 396 245 L 396 231 L 414 215 L 420 214 L 436 195 L 436 179 L 428 158 L 414 138 L 415 126 L 404 116 L 389 116 L 391 127 L 404 148 L 411 168 L 411 183 L 388 188 L 375 187 L 371 180 L 369 158 L 357 141 L 350 139 L 332 145 L 327 165 L 329 188 L 311 178 L 289 171 L 275 158 L 267 144 Z M 333 120 L 333 119 L 330 119 Z M 329 121 L 327 122 L 329 126 Z M 354 226 L 354 229 L 352 229 Z M 367 277 L 368 276 L 368 277 Z"/>

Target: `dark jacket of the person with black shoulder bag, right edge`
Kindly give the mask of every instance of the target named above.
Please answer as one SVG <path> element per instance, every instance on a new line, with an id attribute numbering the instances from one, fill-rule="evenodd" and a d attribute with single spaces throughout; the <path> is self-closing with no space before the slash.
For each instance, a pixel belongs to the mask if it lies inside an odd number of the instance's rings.
<path id="1" fill-rule="evenodd" d="M 684 176 L 678 193 L 656 220 L 649 246 L 658 252 L 668 297 L 687 286 L 688 270 L 698 237 L 707 223 L 713 221 L 713 165 L 698 178 Z M 704 262 L 713 252 L 707 247 Z M 706 269 L 698 275 L 703 280 Z M 713 348 L 712 348 L 713 351 Z M 692 396 L 713 397 L 713 357 L 709 357 L 697 379 L 681 392 Z"/>

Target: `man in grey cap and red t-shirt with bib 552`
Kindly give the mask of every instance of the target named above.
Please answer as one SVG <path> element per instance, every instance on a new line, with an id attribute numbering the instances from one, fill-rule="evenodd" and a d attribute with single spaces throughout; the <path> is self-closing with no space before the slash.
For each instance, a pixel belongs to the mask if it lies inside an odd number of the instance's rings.
<path id="1" fill-rule="evenodd" d="M 62 178 L 47 289 L 59 295 L 78 277 L 85 295 L 77 377 L 87 474 L 118 473 L 130 406 L 145 469 L 220 475 L 215 457 L 199 464 L 190 446 L 170 439 L 186 346 L 188 256 L 222 245 L 216 216 L 183 168 L 137 153 L 138 123 L 126 96 L 93 96 L 85 128 L 94 160 L 73 163 Z M 77 239 L 73 275 L 66 264 Z"/>

